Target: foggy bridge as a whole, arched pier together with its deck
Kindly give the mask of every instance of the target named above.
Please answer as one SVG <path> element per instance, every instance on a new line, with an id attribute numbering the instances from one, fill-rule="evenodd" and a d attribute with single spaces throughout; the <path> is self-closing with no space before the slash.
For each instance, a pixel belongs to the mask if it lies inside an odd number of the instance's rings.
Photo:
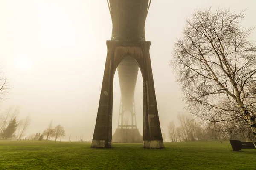
<path id="1" fill-rule="evenodd" d="M 145 20 L 151 0 L 107 0 L 107 2 L 113 29 L 111 41 L 107 41 L 108 53 L 91 147 L 111 148 L 112 146 L 113 78 L 116 69 L 121 88 L 122 107 L 133 110 L 134 89 L 140 68 L 143 77 L 143 147 L 163 148 L 149 55 L 151 43 L 145 40 Z M 131 127 L 134 128 L 132 125 Z"/>

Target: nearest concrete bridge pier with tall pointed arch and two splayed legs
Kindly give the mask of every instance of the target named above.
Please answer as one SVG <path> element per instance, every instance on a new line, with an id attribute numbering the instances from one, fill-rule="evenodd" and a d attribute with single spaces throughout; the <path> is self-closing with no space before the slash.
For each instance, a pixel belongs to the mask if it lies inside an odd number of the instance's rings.
<path id="1" fill-rule="evenodd" d="M 143 77 L 143 147 L 163 148 L 149 55 L 150 42 L 107 41 L 107 47 L 108 54 L 91 147 L 111 148 L 112 146 L 113 77 L 122 59 L 130 56 L 139 65 Z"/>

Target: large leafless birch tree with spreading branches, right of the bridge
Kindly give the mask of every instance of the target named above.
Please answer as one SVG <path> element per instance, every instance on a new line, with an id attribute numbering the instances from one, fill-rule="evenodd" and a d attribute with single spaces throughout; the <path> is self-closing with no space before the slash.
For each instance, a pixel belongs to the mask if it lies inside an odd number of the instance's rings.
<path id="1" fill-rule="evenodd" d="M 228 9 L 195 10 L 177 40 L 172 65 L 188 109 L 218 127 L 246 125 L 256 135 L 256 47 Z"/>

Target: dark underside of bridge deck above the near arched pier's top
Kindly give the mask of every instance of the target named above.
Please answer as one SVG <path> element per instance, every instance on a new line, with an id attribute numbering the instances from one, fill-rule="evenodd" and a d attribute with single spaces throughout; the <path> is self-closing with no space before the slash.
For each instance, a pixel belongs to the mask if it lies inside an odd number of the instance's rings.
<path id="1" fill-rule="evenodd" d="M 145 41 L 148 0 L 109 0 L 112 40 Z"/>

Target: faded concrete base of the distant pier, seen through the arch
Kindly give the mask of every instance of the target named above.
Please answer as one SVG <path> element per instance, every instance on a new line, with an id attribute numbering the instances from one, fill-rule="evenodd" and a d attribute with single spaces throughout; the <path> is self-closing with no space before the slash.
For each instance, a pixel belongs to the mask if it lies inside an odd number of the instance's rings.
<path id="1" fill-rule="evenodd" d="M 112 141 L 116 143 L 142 143 L 143 136 L 140 135 L 139 129 L 116 129 Z"/>

